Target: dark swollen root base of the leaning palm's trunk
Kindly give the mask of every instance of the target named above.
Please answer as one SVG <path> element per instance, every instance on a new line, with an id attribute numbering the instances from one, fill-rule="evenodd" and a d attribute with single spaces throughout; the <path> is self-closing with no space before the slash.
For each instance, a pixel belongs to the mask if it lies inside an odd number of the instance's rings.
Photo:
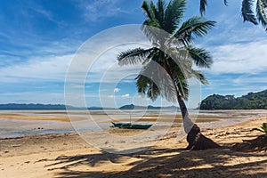
<path id="1" fill-rule="evenodd" d="M 191 128 L 186 140 L 189 142 L 189 145 L 185 150 L 207 150 L 221 148 L 220 145 L 201 134 L 200 128 L 196 124 L 194 124 Z"/>

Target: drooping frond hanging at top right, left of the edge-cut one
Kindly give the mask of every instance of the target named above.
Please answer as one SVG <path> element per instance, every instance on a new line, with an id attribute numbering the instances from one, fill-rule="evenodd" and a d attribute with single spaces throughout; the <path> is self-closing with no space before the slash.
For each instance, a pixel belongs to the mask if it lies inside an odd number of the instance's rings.
<path id="1" fill-rule="evenodd" d="M 243 16 L 244 21 L 250 21 L 250 22 L 254 23 L 255 25 L 257 25 L 258 22 L 255 18 L 255 13 L 252 10 L 253 2 L 254 2 L 254 0 L 243 0 L 241 12 L 242 12 L 242 16 Z"/>

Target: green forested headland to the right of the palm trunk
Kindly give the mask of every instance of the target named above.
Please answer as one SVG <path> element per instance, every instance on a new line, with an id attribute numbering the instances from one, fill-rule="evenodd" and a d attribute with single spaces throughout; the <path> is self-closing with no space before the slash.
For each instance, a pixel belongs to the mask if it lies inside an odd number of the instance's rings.
<path id="1" fill-rule="evenodd" d="M 213 94 L 201 101 L 200 109 L 267 109 L 267 90 L 237 98 Z"/>

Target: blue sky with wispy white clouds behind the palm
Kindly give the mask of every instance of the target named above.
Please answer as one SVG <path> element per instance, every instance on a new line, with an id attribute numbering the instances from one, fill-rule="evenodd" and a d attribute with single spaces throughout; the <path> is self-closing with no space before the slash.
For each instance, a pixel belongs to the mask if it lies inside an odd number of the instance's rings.
<path id="1" fill-rule="evenodd" d="M 199 15 L 196 2 L 188 1 L 184 20 Z M 144 20 L 141 4 L 1 0 L 0 103 L 175 105 L 137 93 L 134 77 L 141 66 L 117 65 L 117 53 L 149 47 L 136 28 Z M 267 34 L 261 26 L 243 23 L 240 4 L 208 1 L 205 17 L 217 23 L 195 45 L 209 51 L 214 64 L 202 70 L 209 85 L 190 81 L 191 107 L 213 93 L 238 97 L 267 88 Z"/>

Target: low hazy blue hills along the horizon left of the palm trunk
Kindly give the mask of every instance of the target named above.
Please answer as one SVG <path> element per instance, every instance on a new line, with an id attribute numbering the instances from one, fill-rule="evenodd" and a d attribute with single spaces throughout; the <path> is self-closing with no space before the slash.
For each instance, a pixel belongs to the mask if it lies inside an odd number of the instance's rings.
<path id="1" fill-rule="evenodd" d="M 0 104 L 0 110 L 65 110 L 65 109 L 85 109 L 74 106 L 66 106 L 64 104 L 18 104 L 8 103 Z M 114 109 L 114 108 L 102 108 L 102 107 L 89 107 L 89 110 L 102 110 L 102 109 Z M 118 109 L 178 109 L 175 106 L 168 107 L 154 107 L 154 106 L 138 106 L 134 104 L 124 105 Z"/>

